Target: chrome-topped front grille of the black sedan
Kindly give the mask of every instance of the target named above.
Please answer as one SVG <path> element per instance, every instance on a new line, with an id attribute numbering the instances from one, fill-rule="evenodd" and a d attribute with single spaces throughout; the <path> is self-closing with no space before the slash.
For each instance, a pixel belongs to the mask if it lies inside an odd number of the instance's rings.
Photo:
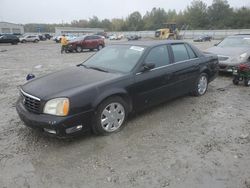
<path id="1" fill-rule="evenodd" d="M 21 90 L 22 102 L 25 108 L 34 113 L 40 113 L 41 100 Z"/>

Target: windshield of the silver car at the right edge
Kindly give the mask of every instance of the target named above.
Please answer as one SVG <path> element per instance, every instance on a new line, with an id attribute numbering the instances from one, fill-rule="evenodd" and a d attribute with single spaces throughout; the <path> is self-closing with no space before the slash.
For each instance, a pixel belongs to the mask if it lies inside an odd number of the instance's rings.
<path id="1" fill-rule="evenodd" d="M 228 37 L 225 38 L 219 47 L 249 47 L 250 48 L 250 36 L 249 37 Z"/>

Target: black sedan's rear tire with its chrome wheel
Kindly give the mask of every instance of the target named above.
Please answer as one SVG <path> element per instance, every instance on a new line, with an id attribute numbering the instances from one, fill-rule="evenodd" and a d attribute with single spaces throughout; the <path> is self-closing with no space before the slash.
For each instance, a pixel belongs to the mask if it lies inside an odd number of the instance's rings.
<path id="1" fill-rule="evenodd" d="M 196 81 L 195 90 L 193 91 L 194 96 L 202 96 L 206 93 L 208 88 L 208 76 L 206 73 L 201 73 Z"/>

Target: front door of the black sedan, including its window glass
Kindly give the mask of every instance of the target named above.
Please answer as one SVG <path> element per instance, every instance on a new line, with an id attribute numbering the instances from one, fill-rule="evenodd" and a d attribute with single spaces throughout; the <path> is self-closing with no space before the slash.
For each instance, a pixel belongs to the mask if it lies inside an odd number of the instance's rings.
<path id="1" fill-rule="evenodd" d="M 144 108 L 160 103 L 171 96 L 172 74 L 168 65 L 170 57 L 167 45 L 152 48 L 143 64 L 155 64 L 147 71 L 138 71 L 135 75 L 134 104 L 136 108 Z"/>

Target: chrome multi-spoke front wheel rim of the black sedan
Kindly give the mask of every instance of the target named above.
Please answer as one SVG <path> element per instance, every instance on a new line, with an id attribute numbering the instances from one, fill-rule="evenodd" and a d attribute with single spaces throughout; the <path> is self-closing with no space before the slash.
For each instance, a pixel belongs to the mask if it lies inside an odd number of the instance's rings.
<path id="1" fill-rule="evenodd" d="M 101 114 L 102 128 L 107 132 L 113 132 L 120 128 L 125 119 L 125 110 L 120 103 L 107 105 Z"/>

